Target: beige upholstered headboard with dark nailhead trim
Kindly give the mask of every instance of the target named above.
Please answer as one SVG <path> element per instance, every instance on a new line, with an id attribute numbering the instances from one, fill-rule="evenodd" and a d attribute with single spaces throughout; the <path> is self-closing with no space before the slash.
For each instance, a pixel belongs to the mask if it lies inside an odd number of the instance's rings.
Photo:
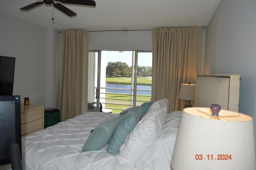
<path id="1" fill-rule="evenodd" d="M 195 107 L 219 104 L 224 110 L 238 112 L 240 75 L 203 74 L 196 79 Z"/>

